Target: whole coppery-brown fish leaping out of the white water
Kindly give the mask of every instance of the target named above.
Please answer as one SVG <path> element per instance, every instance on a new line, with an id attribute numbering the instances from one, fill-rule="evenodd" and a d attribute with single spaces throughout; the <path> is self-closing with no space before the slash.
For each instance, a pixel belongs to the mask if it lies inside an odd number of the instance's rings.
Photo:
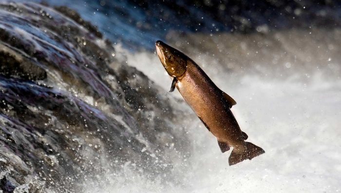
<path id="1" fill-rule="evenodd" d="M 262 148 L 245 141 L 247 135 L 230 110 L 236 102 L 220 90 L 192 59 L 160 40 L 156 41 L 156 52 L 173 78 L 170 92 L 175 88 L 179 90 L 208 131 L 217 138 L 222 153 L 233 147 L 229 165 L 265 153 Z"/>

